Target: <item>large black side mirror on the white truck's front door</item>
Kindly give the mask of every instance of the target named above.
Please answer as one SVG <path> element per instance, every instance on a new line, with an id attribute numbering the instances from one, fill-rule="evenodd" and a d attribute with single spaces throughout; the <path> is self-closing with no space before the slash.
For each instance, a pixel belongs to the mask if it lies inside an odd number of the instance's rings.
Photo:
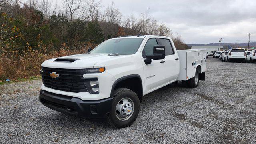
<path id="1" fill-rule="evenodd" d="M 153 47 L 153 54 L 147 55 L 145 64 L 150 64 L 151 60 L 162 60 L 165 58 L 165 46 L 159 45 Z"/>

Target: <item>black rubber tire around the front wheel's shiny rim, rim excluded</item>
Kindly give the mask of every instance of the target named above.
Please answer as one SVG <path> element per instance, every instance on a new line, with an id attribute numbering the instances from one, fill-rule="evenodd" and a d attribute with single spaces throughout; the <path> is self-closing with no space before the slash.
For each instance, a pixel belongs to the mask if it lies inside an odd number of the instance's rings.
<path id="1" fill-rule="evenodd" d="M 124 128 L 124 127 L 130 126 L 136 120 L 140 112 L 140 100 L 137 94 L 127 88 L 118 88 L 114 91 L 114 94 L 112 97 L 113 97 L 112 110 L 107 117 L 108 123 L 115 128 Z M 118 102 L 120 102 L 120 100 L 122 100 L 123 98 L 130 98 L 134 103 L 134 107 L 133 107 L 133 113 L 130 116 L 130 118 L 122 121 L 118 119 L 118 116 L 116 115 L 116 106 Z"/>

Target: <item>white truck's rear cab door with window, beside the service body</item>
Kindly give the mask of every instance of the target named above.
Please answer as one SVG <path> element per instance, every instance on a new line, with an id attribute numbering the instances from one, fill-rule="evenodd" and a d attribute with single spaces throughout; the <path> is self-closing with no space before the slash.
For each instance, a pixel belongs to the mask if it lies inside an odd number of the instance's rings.
<path id="1" fill-rule="evenodd" d="M 158 40 L 161 45 L 165 46 L 166 83 L 175 81 L 180 72 L 178 54 L 175 53 L 174 47 L 169 39 L 159 38 Z"/>

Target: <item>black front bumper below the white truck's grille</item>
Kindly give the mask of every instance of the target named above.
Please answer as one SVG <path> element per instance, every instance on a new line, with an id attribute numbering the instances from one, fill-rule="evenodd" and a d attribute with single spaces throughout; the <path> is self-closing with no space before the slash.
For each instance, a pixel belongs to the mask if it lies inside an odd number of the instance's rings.
<path id="1" fill-rule="evenodd" d="M 52 110 L 86 119 L 106 118 L 112 109 L 112 98 L 81 100 L 40 90 L 39 99 L 44 106 Z"/>

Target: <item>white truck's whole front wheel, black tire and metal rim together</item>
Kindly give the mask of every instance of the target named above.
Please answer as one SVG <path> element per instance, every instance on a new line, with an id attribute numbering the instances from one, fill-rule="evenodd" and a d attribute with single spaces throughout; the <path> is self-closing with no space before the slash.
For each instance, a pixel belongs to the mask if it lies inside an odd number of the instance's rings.
<path id="1" fill-rule="evenodd" d="M 114 91 L 112 110 L 108 115 L 108 122 L 116 128 L 130 126 L 140 112 L 140 100 L 135 92 L 127 88 Z"/>

